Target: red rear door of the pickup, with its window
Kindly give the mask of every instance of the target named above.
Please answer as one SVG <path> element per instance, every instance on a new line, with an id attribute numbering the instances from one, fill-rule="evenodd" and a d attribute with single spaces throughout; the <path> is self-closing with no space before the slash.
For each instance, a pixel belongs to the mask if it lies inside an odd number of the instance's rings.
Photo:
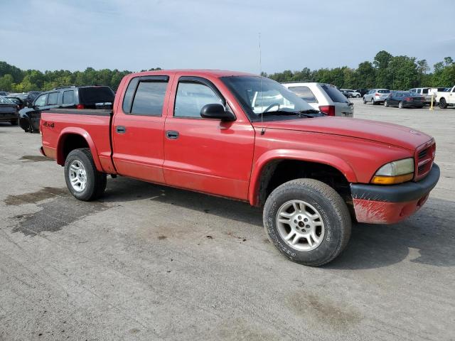
<path id="1" fill-rule="evenodd" d="M 133 77 L 112 121 L 112 158 L 120 175 L 164 183 L 164 112 L 169 76 Z"/>

